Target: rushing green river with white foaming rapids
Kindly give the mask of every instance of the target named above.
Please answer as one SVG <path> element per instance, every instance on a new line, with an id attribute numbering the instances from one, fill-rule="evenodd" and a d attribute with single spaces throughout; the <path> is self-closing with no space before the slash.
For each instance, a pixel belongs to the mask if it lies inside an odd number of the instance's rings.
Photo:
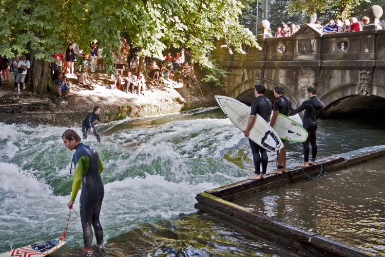
<path id="1" fill-rule="evenodd" d="M 69 213 L 73 152 L 61 139 L 67 127 L 0 125 L 0 252 L 4 252 L 62 233 Z M 105 167 L 101 224 L 109 244 L 100 255 L 288 254 L 212 217 L 191 214 L 196 212 L 197 193 L 252 174 L 248 141 L 219 108 L 127 118 L 97 127 L 102 142 L 90 135 L 84 143 L 99 152 Z M 322 120 L 318 157 L 385 144 L 384 128 L 383 123 Z M 74 129 L 81 134 L 81 127 Z M 288 145 L 287 156 L 288 167 L 296 166 L 302 161 L 302 145 Z M 269 154 L 268 170 L 274 169 L 275 161 Z M 75 202 L 78 213 L 79 196 L 80 192 Z M 83 245 L 79 218 L 70 225 L 67 240 L 76 255 Z"/>

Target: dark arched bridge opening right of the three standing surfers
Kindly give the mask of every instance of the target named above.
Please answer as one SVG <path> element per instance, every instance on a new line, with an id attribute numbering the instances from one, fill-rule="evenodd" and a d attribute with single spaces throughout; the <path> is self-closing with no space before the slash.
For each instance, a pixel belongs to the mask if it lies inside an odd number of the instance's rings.
<path id="1" fill-rule="evenodd" d="M 351 95 L 326 106 L 323 118 L 385 117 L 385 98 L 378 96 Z"/>

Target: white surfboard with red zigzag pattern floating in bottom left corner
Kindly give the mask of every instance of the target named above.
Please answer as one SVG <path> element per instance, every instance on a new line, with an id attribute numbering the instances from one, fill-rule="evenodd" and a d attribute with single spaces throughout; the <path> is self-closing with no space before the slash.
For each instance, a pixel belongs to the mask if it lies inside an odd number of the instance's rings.
<path id="1" fill-rule="evenodd" d="M 10 256 L 23 256 L 23 257 L 41 257 L 47 256 L 48 254 L 56 251 L 61 246 L 64 245 L 64 240 L 60 238 L 52 238 L 50 241 L 27 245 L 24 247 L 12 249 L 5 253 L 0 253 L 0 257 L 10 257 Z"/>

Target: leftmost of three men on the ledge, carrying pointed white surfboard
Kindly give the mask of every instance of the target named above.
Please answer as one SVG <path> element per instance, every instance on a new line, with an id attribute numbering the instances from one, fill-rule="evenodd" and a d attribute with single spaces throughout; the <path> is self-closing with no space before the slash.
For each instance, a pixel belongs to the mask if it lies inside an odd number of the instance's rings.
<path id="1" fill-rule="evenodd" d="M 245 137 L 248 137 L 252 127 L 259 114 L 265 121 L 269 121 L 270 113 L 272 112 L 272 102 L 268 100 L 265 96 L 265 87 L 263 85 L 255 85 L 254 95 L 256 99 L 252 102 L 252 110 L 248 118 L 247 127 L 243 131 Z M 261 179 L 266 178 L 266 168 L 267 168 L 267 153 L 266 149 L 259 146 L 257 143 L 248 139 L 250 147 L 253 153 L 253 162 L 255 167 L 255 175 L 249 177 L 248 179 Z M 262 173 L 260 171 L 260 166 L 262 163 Z"/>

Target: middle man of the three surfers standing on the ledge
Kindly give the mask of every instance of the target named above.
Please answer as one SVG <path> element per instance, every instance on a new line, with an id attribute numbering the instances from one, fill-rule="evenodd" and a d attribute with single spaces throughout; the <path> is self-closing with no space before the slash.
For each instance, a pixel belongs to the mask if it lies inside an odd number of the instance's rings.
<path id="1" fill-rule="evenodd" d="M 272 121 L 270 122 L 270 126 L 274 126 L 278 114 L 283 114 L 285 116 L 289 116 L 290 111 L 292 110 L 292 103 L 290 100 L 285 97 L 283 88 L 281 86 L 276 86 L 273 90 L 274 97 L 277 99 L 273 104 L 273 115 Z M 282 139 L 285 141 L 285 139 Z M 286 150 L 285 146 L 279 151 L 278 161 L 277 161 L 277 169 L 270 172 L 271 174 L 282 174 L 282 172 L 287 172 L 286 170 Z"/>

